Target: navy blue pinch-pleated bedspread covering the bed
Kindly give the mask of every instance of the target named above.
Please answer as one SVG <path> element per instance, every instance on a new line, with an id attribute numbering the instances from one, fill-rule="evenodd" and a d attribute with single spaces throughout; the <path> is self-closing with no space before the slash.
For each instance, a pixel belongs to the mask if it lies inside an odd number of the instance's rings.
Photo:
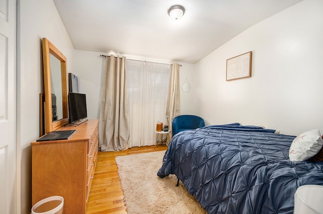
<path id="1" fill-rule="evenodd" d="M 292 214 L 299 186 L 323 185 L 323 162 L 289 160 L 295 136 L 229 126 L 176 134 L 157 175 L 175 174 L 208 213 Z"/>

